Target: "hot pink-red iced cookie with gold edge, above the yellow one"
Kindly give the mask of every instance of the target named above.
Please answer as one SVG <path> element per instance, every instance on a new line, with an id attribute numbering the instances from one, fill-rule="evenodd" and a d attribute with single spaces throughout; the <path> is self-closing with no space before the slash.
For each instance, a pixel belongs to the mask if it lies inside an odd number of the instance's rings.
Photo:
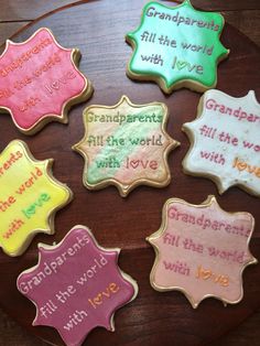
<path id="1" fill-rule="evenodd" d="M 9 111 L 26 134 L 52 120 L 67 122 L 68 108 L 93 91 L 76 67 L 79 57 L 78 50 L 62 47 L 46 28 L 23 43 L 7 41 L 0 56 L 0 110 Z"/>

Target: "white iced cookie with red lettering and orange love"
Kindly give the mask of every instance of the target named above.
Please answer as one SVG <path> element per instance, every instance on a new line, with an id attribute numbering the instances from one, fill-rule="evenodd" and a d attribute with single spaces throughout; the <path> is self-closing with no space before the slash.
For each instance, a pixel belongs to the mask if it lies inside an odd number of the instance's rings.
<path id="1" fill-rule="evenodd" d="M 253 91 L 241 98 L 206 91 L 197 119 L 183 130 L 191 140 L 183 161 L 187 174 L 212 179 L 220 194 L 239 185 L 260 196 L 260 105 Z"/>

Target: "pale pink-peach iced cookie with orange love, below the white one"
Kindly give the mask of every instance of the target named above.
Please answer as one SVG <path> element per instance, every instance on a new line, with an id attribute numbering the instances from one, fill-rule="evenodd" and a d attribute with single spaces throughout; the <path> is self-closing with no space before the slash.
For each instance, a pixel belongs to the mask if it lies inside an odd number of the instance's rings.
<path id="1" fill-rule="evenodd" d="M 156 259 L 150 281 L 156 291 L 178 290 L 193 307 L 214 296 L 226 305 L 242 299 L 242 271 L 257 263 L 248 246 L 254 220 L 227 213 L 214 196 L 201 205 L 169 199 L 161 228 L 147 240 Z"/>

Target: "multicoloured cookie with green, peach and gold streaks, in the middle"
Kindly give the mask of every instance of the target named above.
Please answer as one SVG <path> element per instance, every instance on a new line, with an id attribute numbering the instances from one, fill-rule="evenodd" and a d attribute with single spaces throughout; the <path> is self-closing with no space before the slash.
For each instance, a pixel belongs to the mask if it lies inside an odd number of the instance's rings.
<path id="1" fill-rule="evenodd" d="M 140 184 L 170 183 L 167 153 L 178 145 L 165 132 L 164 104 L 133 105 L 127 96 L 111 107 L 84 110 L 85 137 L 73 147 L 86 160 L 83 182 L 87 188 L 109 184 L 126 196 Z"/>

